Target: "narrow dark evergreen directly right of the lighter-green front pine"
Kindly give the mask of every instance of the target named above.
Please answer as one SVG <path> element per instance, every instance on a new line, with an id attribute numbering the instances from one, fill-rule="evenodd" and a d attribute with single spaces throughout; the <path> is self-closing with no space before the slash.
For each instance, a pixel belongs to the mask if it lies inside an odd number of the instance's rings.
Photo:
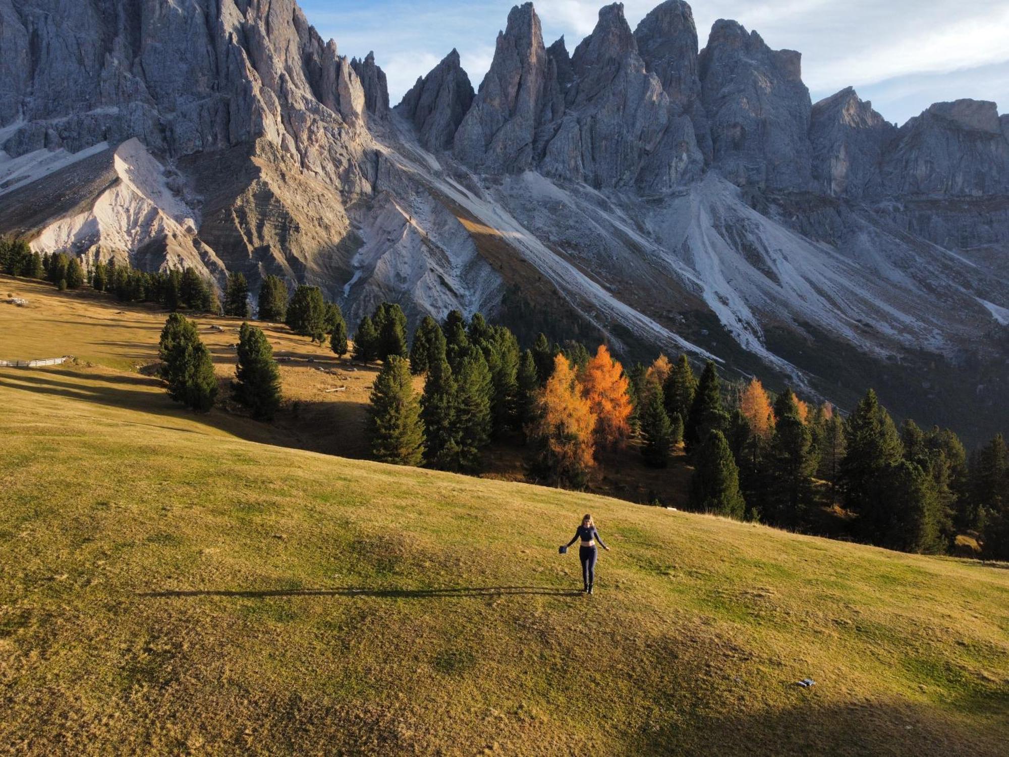
<path id="1" fill-rule="evenodd" d="M 421 398 L 427 464 L 442 470 L 454 470 L 459 460 L 456 391 L 452 368 L 445 357 L 445 335 L 441 329 L 430 332 L 430 364 Z"/>

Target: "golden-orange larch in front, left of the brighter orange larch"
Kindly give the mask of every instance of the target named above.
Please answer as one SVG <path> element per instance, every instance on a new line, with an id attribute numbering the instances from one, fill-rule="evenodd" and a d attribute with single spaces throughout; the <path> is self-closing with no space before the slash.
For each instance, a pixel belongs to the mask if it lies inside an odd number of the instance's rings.
<path id="1" fill-rule="evenodd" d="M 526 433 L 533 475 L 562 485 L 585 484 L 595 464 L 595 416 L 564 355 L 554 358 L 550 379 L 537 397 L 535 416 Z"/>

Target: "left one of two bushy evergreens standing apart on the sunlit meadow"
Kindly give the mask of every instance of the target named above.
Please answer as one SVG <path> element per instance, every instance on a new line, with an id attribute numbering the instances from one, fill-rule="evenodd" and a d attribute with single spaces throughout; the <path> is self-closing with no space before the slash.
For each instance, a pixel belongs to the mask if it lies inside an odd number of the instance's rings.
<path id="1" fill-rule="evenodd" d="M 169 397 L 198 412 L 209 412 L 217 397 L 217 377 L 196 324 L 178 313 L 169 316 L 161 330 L 158 353 L 160 375 L 169 385 Z"/>

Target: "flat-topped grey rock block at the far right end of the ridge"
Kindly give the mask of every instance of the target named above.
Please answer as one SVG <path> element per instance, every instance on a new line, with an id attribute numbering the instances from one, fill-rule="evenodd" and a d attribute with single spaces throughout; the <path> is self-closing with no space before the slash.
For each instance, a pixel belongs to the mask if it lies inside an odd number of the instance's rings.
<path id="1" fill-rule="evenodd" d="M 899 132 L 883 169 L 888 192 L 982 196 L 1009 192 L 1009 141 L 995 103 L 936 103 Z"/>

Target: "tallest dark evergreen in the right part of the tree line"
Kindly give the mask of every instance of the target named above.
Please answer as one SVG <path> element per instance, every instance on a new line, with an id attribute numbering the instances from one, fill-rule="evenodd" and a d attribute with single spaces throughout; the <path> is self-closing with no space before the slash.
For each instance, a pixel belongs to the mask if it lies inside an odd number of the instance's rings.
<path id="1" fill-rule="evenodd" d="M 901 459 L 903 445 L 872 390 L 845 426 L 845 446 L 840 461 L 845 506 L 859 515 L 863 534 L 876 542 L 888 518 L 884 476 Z"/>

